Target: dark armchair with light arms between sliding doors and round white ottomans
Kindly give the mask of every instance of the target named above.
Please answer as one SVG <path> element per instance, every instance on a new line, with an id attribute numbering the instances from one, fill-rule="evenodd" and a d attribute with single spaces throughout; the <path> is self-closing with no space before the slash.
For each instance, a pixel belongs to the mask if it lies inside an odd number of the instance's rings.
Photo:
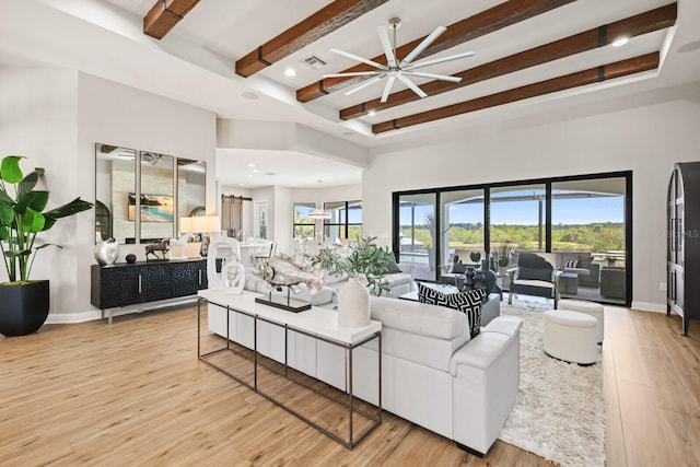
<path id="1" fill-rule="evenodd" d="M 513 303 L 513 296 L 523 295 L 544 296 L 555 301 L 555 310 L 559 302 L 557 276 L 555 267 L 541 256 L 534 253 L 521 252 L 517 268 L 509 271 L 511 284 L 508 303 Z"/>

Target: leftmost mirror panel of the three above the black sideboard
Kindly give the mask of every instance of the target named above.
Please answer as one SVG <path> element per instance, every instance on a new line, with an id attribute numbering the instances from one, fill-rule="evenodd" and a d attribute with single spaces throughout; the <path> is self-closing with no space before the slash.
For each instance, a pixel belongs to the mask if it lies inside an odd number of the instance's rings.
<path id="1" fill-rule="evenodd" d="M 115 238 L 127 243 L 136 237 L 129 221 L 129 194 L 136 191 L 136 150 L 95 144 L 95 241 Z"/>

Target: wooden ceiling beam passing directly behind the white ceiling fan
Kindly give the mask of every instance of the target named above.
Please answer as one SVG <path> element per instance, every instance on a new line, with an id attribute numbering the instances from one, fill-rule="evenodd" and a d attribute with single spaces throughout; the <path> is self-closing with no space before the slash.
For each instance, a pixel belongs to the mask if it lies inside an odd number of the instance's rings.
<path id="1" fill-rule="evenodd" d="M 433 42 L 430 47 L 423 50 L 423 52 L 417 57 L 417 60 L 455 47 L 459 44 L 464 44 L 467 40 L 481 37 L 521 21 L 537 16 L 538 14 L 542 14 L 547 11 L 571 3 L 572 1 L 575 0 L 510 0 L 502 2 L 493 8 L 477 13 L 474 16 L 469 16 L 447 26 L 447 31 Z M 425 37 L 420 37 L 397 47 L 396 55 L 398 57 L 406 57 L 424 38 Z M 386 57 L 384 55 L 376 56 L 372 60 L 380 63 L 386 63 Z M 372 70 L 374 70 L 374 68 L 365 63 L 359 63 L 354 67 L 342 70 L 341 73 Z M 365 79 L 368 78 L 326 78 L 317 83 L 312 83 L 298 90 L 296 100 L 299 102 L 306 103 L 331 92 L 340 91 L 350 85 L 357 84 Z"/>

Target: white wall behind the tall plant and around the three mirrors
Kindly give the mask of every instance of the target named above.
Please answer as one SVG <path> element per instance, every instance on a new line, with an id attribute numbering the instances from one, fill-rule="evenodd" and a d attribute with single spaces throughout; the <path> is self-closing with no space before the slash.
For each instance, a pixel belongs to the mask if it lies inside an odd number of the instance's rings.
<path id="1" fill-rule="evenodd" d="M 215 115 L 89 74 L 0 67 L 0 151 L 46 168 L 49 207 L 95 199 L 96 142 L 207 162 L 207 210 L 215 211 Z M 36 278 L 51 281 L 49 323 L 98 316 L 90 304 L 94 211 L 62 219 L 46 235 Z M 119 260 L 143 246 L 122 246 Z"/>

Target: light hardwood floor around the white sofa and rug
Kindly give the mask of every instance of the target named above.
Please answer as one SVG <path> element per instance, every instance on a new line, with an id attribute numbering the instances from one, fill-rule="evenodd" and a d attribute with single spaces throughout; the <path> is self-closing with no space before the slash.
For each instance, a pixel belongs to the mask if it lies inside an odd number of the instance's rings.
<path id="1" fill-rule="evenodd" d="M 0 465 L 545 466 L 386 413 L 353 451 L 197 359 L 196 307 L 0 337 Z M 700 323 L 606 308 L 608 466 L 700 465 Z M 533 430 L 536 430 L 533 427 Z"/>

